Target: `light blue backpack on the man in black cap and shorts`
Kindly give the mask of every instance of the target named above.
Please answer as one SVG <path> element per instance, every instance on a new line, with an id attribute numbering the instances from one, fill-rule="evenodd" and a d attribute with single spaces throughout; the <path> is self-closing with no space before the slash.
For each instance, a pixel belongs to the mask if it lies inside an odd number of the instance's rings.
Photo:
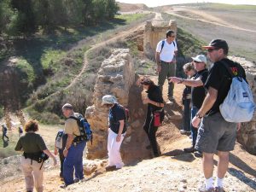
<path id="1" fill-rule="evenodd" d="M 219 106 L 219 111 L 228 122 L 241 123 L 253 119 L 255 104 L 252 90 L 241 75 L 235 76 L 227 63 L 222 61 L 224 67 L 232 77 L 230 90 L 224 102 Z"/>

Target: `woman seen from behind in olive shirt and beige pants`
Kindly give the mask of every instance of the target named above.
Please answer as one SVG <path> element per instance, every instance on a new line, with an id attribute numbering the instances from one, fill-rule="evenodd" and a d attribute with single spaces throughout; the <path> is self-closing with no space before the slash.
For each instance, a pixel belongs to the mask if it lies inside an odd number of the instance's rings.
<path id="1" fill-rule="evenodd" d="M 19 138 L 16 151 L 23 151 L 21 156 L 21 170 L 25 177 L 26 191 L 33 191 L 34 185 L 38 192 L 43 191 L 44 160 L 51 157 L 56 165 L 56 159 L 46 148 L 44 139 L 35 132 L 38 131 L 38 122 L 30 120 L 25 125 L 26 134 Z M 47 156 L 48 155 L 48 156 Z"/>

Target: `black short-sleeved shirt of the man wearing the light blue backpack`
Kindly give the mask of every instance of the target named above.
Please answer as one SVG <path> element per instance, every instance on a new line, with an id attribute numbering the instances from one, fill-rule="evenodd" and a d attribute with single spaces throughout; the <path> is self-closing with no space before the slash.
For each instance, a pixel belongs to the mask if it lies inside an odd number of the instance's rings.
<path id="1" fill-rule="evenodd" d="M 230 66 L 230 69 L 234 75 L 239 74 L 243 79 L 246 80 L 246 74 L 241 65 L 235 63 L 234 61 L 230 61 L 227 58 L 224 58 L 222 61 L 226 62 Z M 218 90 L 218 96 L 212 108 L 207 112 L 208 115 L 219 112 L 219 105 L 224 102 L 225 97 L 228 95 L 231 82 L 232 79 L 230 73 L 224 67 L 224 64 L 221 61 L 215 62 L 210 69 L 205 87 L 207 89 L 212 87 L 213 89 Z"/>

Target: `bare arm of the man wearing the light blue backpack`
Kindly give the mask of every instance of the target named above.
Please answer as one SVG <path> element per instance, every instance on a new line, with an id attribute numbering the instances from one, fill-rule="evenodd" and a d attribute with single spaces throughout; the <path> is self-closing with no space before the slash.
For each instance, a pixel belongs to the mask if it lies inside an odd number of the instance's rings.
<path id="1" fill-rule="evenodd" d="M 201 122 L 201 118 L 212 108 L 214 102 L 216 102 L 216 100 L 217 100 L 217 96 L 218 96 L 218 90 L 215 90 L 214 88 L 209 87 L 207 96 L 206 96 L 204 102 L 202 103 L 201 108 L 197 112 L 197 114 L 199 116 L 195 116 L 192 119 L 192 125 L 194 127 L 199 126 L 199 124 Z"/>

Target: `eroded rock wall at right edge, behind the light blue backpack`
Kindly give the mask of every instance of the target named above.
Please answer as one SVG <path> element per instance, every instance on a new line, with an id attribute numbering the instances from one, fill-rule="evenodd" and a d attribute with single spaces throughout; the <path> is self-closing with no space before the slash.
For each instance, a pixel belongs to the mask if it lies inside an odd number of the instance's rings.
<path id="1" fill-rule="evenodd" d="M 237 61 L 245 69 L 247 82 L 250 84 L 253 92 L 253 100 L 256 103 L 256 66 L 251 61 L 246 61 L 244 58 L 230 56 L 230 59 Z M 256 113 L 254 112 L 253 119 L 250 122 L 242 123 L 241 129 L 237 133 L 237 140 L 251 154 L 256 154 Z"/>

